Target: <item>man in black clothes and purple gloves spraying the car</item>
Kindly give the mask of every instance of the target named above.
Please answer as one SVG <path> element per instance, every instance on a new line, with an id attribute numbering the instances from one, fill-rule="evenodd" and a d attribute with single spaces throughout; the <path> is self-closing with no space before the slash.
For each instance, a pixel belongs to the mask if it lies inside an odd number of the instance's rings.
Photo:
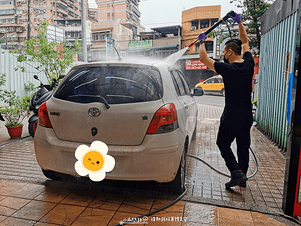
<path id="1" fill-rule="evenodd" d="M 252 78 L 254 74 L 254 59 L 250 53 L 248 35 L 239 14 L 231 17 L 238 23 L 239 39 L 226 42 L 224 63 L 216 62 L 207 56 L 204 33 L 199 35 L 200 60 L 211 70 L 222 75 L 225 86 L 225 108 L 221 117 L 217 146 L 231 172 L 231 180 L 227 188 L 239 185 L 246 187 L 249 167 L 249 147 L 251 144 L 250 129 L 252 116 Z M 231 150 L 231 144 L 236 139 L 238 161 Z"/>

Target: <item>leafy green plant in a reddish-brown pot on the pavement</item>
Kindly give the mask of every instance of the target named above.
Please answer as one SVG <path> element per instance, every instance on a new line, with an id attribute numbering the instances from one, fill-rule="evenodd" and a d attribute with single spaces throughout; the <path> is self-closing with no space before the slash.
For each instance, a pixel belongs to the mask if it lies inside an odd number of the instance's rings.
<path id="1" fill-rule="evenodd" d="M 28 116 L 29 102 L 16 95 L 16 91 L 4 91 L 4 101 L 8 106 L 0 108 L 0 113 L 7 121 L 5 125 L 12 139 L 21 138 L 22 121 Z"/>

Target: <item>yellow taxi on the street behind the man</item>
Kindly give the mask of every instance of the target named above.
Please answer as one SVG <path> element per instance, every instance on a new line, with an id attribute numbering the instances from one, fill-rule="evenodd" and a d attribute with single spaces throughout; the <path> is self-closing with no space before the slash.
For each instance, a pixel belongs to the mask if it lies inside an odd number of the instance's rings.
<path id="1" fill-rule="evenodd" d="M 219 92 L 225 96 L 224 81 L 221 75 L 215 75 L 203 82 L 196 84 L 195 87 L 202 88 L 205 92 Z"/>

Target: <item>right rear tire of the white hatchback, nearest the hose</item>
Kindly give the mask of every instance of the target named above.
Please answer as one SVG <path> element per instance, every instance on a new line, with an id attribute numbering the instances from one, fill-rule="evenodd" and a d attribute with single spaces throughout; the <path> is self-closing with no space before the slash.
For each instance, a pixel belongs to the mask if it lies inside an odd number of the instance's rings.
<path id="1" fill-rule="evenodd" d="M 185 174 L 186 174 L 186 147 L 184 145 L 184 150 L 182 152 L 182 158 L 181 158 L 177 175 L 173 181 L 167 183 L 169 192 L 177 193 L 177 194 L 183 193 L 184 185 L 185 185 Z"/>

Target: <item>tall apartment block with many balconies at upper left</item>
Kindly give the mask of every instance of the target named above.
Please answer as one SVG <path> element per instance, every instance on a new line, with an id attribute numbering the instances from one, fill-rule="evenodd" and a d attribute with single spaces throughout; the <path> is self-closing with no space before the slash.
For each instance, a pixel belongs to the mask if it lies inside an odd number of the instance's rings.
<path id="1" fill-rule="evenodd" d="M 78 0 L 0 0 L 0 29 L 8 33 L 9 48 L 13 48 L 14 41 L 14 46 L 22 49 L 28 38 L 28 28 L 30 36 L 34 37 L 37 35 L 37 28 L 45 20 L 53 26 L 69 27 L 69 21 L 81 19 L 80 9 L 81 1 Z M 86 4 L 87 20 L 94 15 L 92 19 L 96 21 L 95 12 L 96 10 L 90 10 Z M 63 20 L 66 22 L 62 22 Z M 74 32 L 79 32 L 78 28 Z"/>

